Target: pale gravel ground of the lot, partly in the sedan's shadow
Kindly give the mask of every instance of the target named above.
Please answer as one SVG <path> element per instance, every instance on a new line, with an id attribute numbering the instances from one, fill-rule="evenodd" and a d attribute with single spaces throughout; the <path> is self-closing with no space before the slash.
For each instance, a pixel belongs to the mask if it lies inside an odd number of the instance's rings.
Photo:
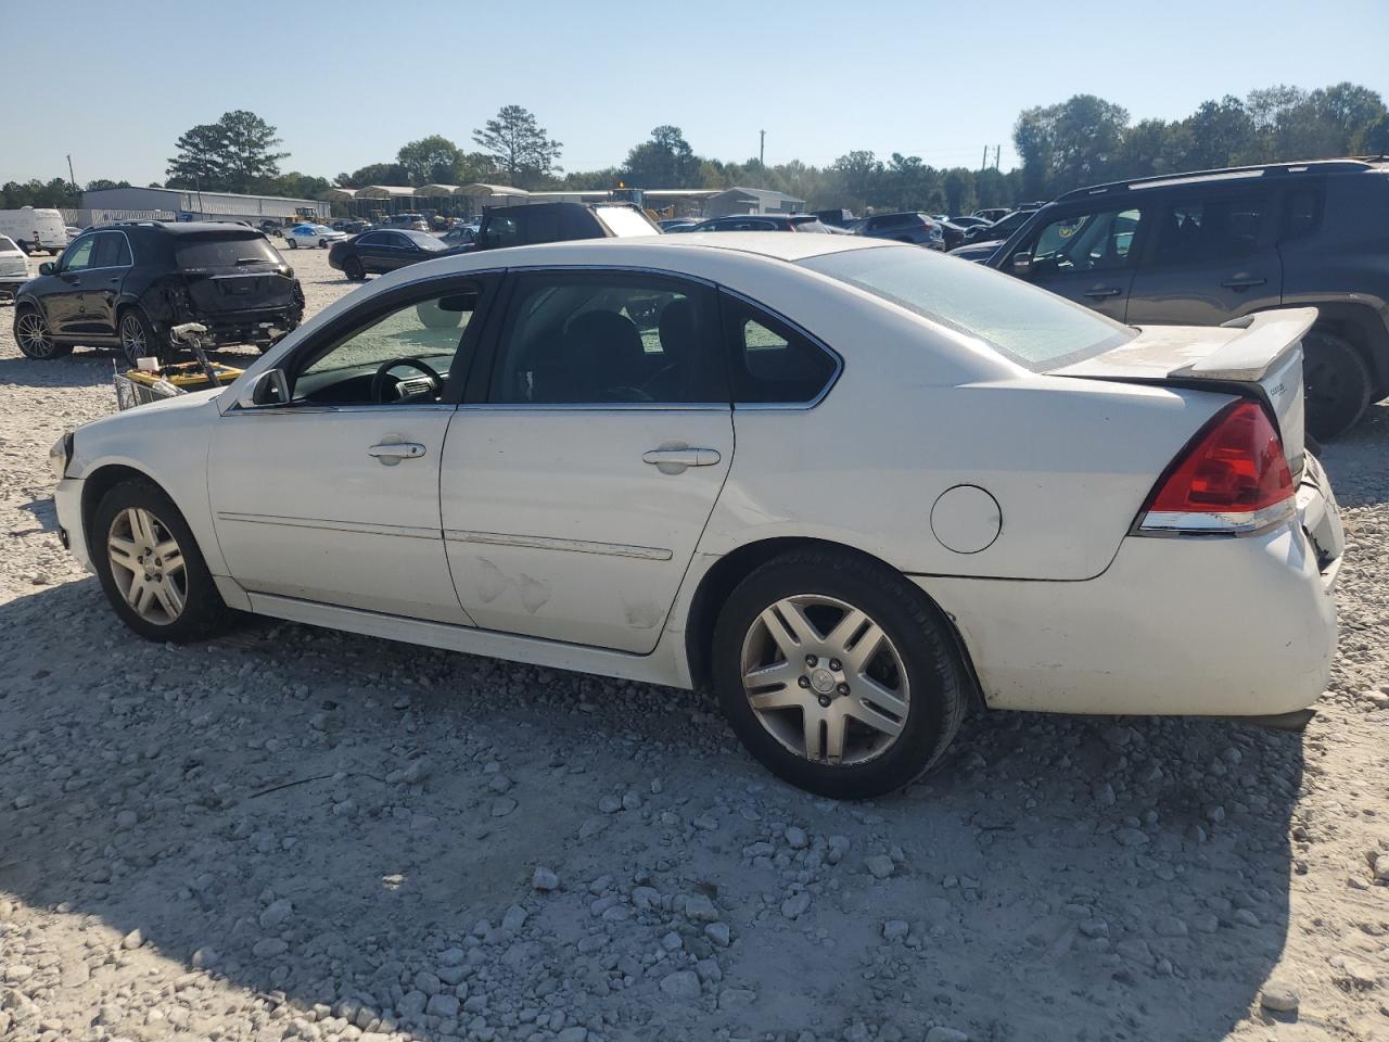
<path id="1" fill-rule="evenodd" d="M 310 311 L 349 290 L 292 263 Z M 1389 407 L 1325 454 L 1350 549 L 1304 735 L 975 714 L 836 804 L 683 692 L 132 638 L 44 458 L 111 356 L 0 321 L 0 1039 L 1389 1038 Z"/>

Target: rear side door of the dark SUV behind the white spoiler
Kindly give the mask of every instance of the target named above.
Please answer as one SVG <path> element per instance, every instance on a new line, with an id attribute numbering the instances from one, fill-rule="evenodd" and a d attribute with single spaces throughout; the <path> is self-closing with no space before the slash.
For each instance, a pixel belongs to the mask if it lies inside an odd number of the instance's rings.
<path id="1" fill-rule="evenodd" d="M 1220 325 L 1282 303 L 1271 197 L 1233 189 L 1164 201 L 1133 276 L 1128 321 Z"/>

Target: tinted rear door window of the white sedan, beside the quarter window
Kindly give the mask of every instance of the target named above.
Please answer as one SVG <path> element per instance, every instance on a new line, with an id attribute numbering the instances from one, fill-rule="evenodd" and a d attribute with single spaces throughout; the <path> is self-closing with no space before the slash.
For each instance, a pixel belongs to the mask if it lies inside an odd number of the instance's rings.
<path id="1" fill-rule="evenodd" d="M 728 404 L 713 290 L 629 272 L 522 276 L 489 400 Z"/>

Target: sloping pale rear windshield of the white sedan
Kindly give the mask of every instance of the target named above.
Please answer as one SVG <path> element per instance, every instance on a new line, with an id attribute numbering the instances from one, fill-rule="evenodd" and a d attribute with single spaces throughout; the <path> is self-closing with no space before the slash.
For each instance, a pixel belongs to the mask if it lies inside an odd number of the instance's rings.
<path id="1" fill-rule="evenodd" d="M 901 246 L 846 250 L 800 264 L 976 336 L 1033 372 L 1089 358 L 1138 335 L 1011 275 L 928 250 Z"/>

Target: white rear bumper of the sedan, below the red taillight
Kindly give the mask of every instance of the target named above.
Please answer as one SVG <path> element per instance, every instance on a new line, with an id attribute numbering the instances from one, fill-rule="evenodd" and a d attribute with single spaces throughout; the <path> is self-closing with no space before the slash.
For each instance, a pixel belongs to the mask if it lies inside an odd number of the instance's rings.
<path id="1" fill-rule="evenodd" d="M 1336 652 L 1340 521 L 1311 470 L 1301 524 L 1247 538 L 1128 538 L 1083 582 L 917 582 L 954 618 L 990 707 L 1292 713 L 1325 690 Z"/>

